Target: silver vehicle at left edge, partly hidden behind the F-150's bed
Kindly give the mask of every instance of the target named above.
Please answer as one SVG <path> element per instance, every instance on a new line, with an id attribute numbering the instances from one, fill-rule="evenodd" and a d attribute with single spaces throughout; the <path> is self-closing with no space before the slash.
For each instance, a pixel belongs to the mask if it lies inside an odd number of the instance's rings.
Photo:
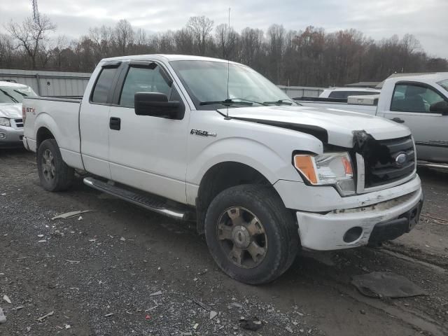
<path id="1" fill-rule="evenodd" d="M 0 148 L 23 147 L 24 97 L 36 97 L 36 93 L 27 85 L 0 80 Z"/>

